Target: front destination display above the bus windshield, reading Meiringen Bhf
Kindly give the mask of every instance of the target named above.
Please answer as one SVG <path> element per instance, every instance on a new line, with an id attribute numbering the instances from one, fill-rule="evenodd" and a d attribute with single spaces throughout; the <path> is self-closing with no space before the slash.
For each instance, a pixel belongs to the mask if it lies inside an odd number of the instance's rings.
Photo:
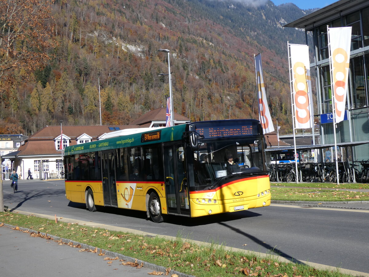
<path id="1" fill-rule="evenodd" d="M 196 128 L 197 133 L 204 137 L 227 137 L 227 136 L 250 136 L 258 134 L 257 125 L 226 126 L 226 127 L 203 127 Z"/>

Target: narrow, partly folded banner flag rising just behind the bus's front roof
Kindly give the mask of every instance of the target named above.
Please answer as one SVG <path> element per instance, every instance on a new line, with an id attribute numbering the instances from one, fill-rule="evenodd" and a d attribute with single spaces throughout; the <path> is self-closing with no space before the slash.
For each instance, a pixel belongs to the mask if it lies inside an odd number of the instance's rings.
<path id="1" fill-rule="evenodd" d="M 270 117 L 268 103 L 266 102 L 263 69 L 261 66 L 261 54 L 255 56 L 256 86 L 258 87 L 259 120 L 264 133 L 274 131 L 272 118 Z"/>

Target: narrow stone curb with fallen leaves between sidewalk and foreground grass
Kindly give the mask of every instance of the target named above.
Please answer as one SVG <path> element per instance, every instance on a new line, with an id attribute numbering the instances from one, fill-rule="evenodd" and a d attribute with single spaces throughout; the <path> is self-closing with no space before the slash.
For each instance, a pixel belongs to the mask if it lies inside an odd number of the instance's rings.
<path id="1" fill-rule="evenodd" d="M 0 223 L 2 223 L 2 222 L 0 222 Z M 17 226 L 9 225 L 9 224 L 6 224 L 6 223 L 4 223 L 4 226 L 10 227 L 10 228 L 13 228 L 13 229 L 15 227 L 17 227 Z M 96 250 L 97 249 L 98 253 L 100 253 L 100 251 L 101 251 L 101 253 L 104 253 L 105 256 L 108 256 L 108 257 L 111 257 L 111 258 L 118 257 L 119 259 L 124 260 L 124 261 L 130 261 L 132 263 L 136 262 L 138 264 L 142 263 L 143 267 L 145 267 L 146 269 L 155 270 L 155 271 L 162 271 L 164 273 L 165 273 L 165 270 L 167 269 L 166 267 L 163 267 L 163 266 L 158 266 L 156 264 L 148 263 L 146 261 L 139 260 L 139 259 L 136 259 L 136 258 L 133 258 L 133 257 L 130 257 L 130 256 L 125 256 L 125 255 L 120 254 L 120 253 L 116 253 L 116 252 L 112 252 L 112 251 L 109 251 L 109 250 L 101 249 L 101 248 L 98 248 L 96 246 L 91 246 L 91 245 L 88 245 L 88 244 L 85 244 L 85 243 L 76 242 L 76 241 L 70 240 L 70 239 L 63 239 L 62 237 L 49 235 L 47 233 L 38 232 L 38 231 L 28 229 L 28 228 L 23 228 L 23 227 L 18 227 L 18 228 L 19 228 L 20 231 L 28 231 L 30 233 L 36 233 L 36 234 L 41 234 L 42 236 L 50 237 L 55 242 L 60 240 L 61 242 L 66 243 L 66 244 L 69 244 L 69 243 L 73 243 L 73 245 L 79 244 L 81 246 L 81 248 L 83 248 L 83 249 L 88 249 L 88 250 Z M 169 273 L 168 273 L 168 276 L 170 276 L 172 274 L 177 274 L 179 277 L 196 277 L 196 276 L 188 275 L 188 274 L 185 274 L 185 273 L 182 273 L 182 272 L 179 272 L 179 271 L 170 270 Z"/>

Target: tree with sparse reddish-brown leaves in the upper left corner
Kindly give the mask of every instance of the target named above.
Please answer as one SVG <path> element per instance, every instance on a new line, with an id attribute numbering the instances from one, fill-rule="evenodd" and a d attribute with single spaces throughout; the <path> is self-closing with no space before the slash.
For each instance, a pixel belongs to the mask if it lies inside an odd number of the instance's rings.
<path id="1" fill-rule="evenodd" d="M 14 69 L 32 70 L 49 59 L 54 46 L 52 0 L 0 0 L 0 82 L 12 83 Z M 26 75 L 24 75 L 26 76 Z"/>

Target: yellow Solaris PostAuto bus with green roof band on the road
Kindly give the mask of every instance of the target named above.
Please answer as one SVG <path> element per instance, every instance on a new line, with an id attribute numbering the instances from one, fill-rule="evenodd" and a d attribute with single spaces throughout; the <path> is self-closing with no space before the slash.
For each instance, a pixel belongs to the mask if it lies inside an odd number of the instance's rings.
<path id="1" fill-rule="evenodd" d="M 92 212 L 99 206 L 146 211 L 154 222 L 163 215 L 197 217 L 270 205 L 258 120 L 144 130 L 66 147 L 66 198 Z"/>

